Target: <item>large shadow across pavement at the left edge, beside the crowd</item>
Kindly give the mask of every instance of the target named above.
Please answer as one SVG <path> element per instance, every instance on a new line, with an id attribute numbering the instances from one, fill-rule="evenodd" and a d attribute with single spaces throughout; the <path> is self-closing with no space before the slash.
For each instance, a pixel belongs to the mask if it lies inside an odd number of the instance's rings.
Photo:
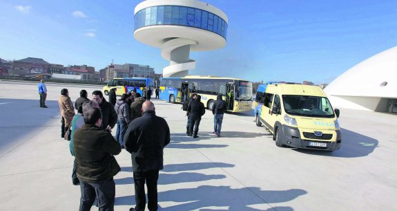
<path id="1" fill-rule="evenodd" d="M 32 133 L 38 134 L 44 129 L 40 129 L 40 127 L 59 127 L 59 134 L 53 134 L 53 136 L 61 138 L 58 102 L 46 100 L 46 105 L 48 108 L 45 109 L 39 107 L 39 100 L 0 98 L 0 157 L 28 141 L 24 140 L 23 136 Z M 59 117 L 59 121 L 53 122 L 57 117 Z M 34 136 L 34 134 L 30 136 Z"/>

